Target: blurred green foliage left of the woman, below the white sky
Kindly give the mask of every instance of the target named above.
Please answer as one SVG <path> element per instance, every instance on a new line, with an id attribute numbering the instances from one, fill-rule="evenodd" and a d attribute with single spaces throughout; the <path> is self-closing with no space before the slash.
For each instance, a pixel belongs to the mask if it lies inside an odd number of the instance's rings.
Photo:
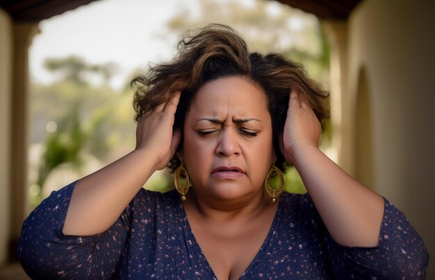
<path id="1" fill-rule="evenodd" d="M 29 189 L 34 207 L 43 199 L 44 183 L 56 168 L 69 163 L 83 170 L 88 155 L 106 165 L 134 145 L 131 89 L 116 91 L 108 87 L 108 80 L 95 85 L 85 74 L 99 72 L 110 79 L 115 64 L 90 65 L 70 57 L 48 59 L 46 67 L 63 75 L 51 85 L 31 85 L 31 142 L 42 143 L 35 184 Z M 50 132 L 44 129 L 47 124 L 54 125 Z"/>

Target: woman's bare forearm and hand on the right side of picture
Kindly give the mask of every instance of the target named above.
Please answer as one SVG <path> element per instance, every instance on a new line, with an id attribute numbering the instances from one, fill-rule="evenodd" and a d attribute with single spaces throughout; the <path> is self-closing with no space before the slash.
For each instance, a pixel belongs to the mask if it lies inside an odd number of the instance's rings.
<path id="1" fill-rule="evenodd" d="M 320 123 L 292 91 L 281 150 L 301 175 L 332 238 L 340 245 L 375 247 L 384 200 L 331 161 L 318 148 Z"/>

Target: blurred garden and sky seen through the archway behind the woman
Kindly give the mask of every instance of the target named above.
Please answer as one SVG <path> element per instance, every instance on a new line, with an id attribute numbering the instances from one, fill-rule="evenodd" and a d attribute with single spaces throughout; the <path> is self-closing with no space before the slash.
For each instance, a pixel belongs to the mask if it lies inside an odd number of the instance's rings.
<path id="1" fill-rule="evenodd" d="M 31 209 L 51 191 L 133 150 L 131 78 L 147 71 L 149 63 L 172 58 L 187 30 L 210 22 L 232 26 L 252 51 L 283 53 L 328 87 L 329 46 L 317 17 L 274 1 L 171 3 L 168 10 L 167 1 L 98 1 L 40 24 L 29 50 Z M 121 19 L 119 10 L 136 19 Z M 90 28 L 87 23 L 96 15 Z M 322 144 L 328 148 L 329 143 L 325 134 Z M 305 191 L 294 169 L 286 177 L 288 191 Z M 163 170 L 145 187 L 172 186 L 172 175 Z"/>

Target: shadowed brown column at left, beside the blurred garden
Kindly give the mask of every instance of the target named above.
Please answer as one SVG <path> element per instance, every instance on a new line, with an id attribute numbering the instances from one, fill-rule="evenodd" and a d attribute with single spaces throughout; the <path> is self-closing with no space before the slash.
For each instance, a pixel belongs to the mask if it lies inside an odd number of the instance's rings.
<path id="1" fill-rule="evenodd" d="M 28 47 L 39 33 L 38 23 L 13 24 L 13 66 L 10 116 L 10 259 L 26 216 L 28 152 Z"/>

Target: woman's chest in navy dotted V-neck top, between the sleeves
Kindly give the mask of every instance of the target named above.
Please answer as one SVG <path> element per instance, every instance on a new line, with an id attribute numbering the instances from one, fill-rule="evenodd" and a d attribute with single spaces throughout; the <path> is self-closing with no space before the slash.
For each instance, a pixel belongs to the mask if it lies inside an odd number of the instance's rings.
<path id="1" fill-rule="evenodd" d="M 268 223 L 249 222 L 236 231 L 206 228 L 183 211 L 169 210 L 133 222 L 119 279 L 331 278 L 325 236 L 297 211 L 278 211 Z"/>

